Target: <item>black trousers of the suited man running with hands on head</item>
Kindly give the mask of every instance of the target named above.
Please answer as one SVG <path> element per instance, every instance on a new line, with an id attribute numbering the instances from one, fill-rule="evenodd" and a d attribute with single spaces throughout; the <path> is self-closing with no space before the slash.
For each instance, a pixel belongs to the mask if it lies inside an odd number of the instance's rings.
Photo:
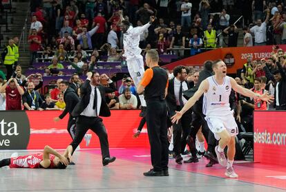
<path id="1" fill-rule="evenodd" d="M 102 122 L 102 118 L 99 117 L 88 117 L 88 116 L 78 116 L 76 120 L 77 129 L 75 129 L 75 138 L 70 145 L 73 146 L 73 151 L 77 148 L 84 135 L 91 129 L 95 134 L 97 134 L 100 142 L 100 148 L 102 149 L 102 159 L 110 158 L 107 132 Z"/>

